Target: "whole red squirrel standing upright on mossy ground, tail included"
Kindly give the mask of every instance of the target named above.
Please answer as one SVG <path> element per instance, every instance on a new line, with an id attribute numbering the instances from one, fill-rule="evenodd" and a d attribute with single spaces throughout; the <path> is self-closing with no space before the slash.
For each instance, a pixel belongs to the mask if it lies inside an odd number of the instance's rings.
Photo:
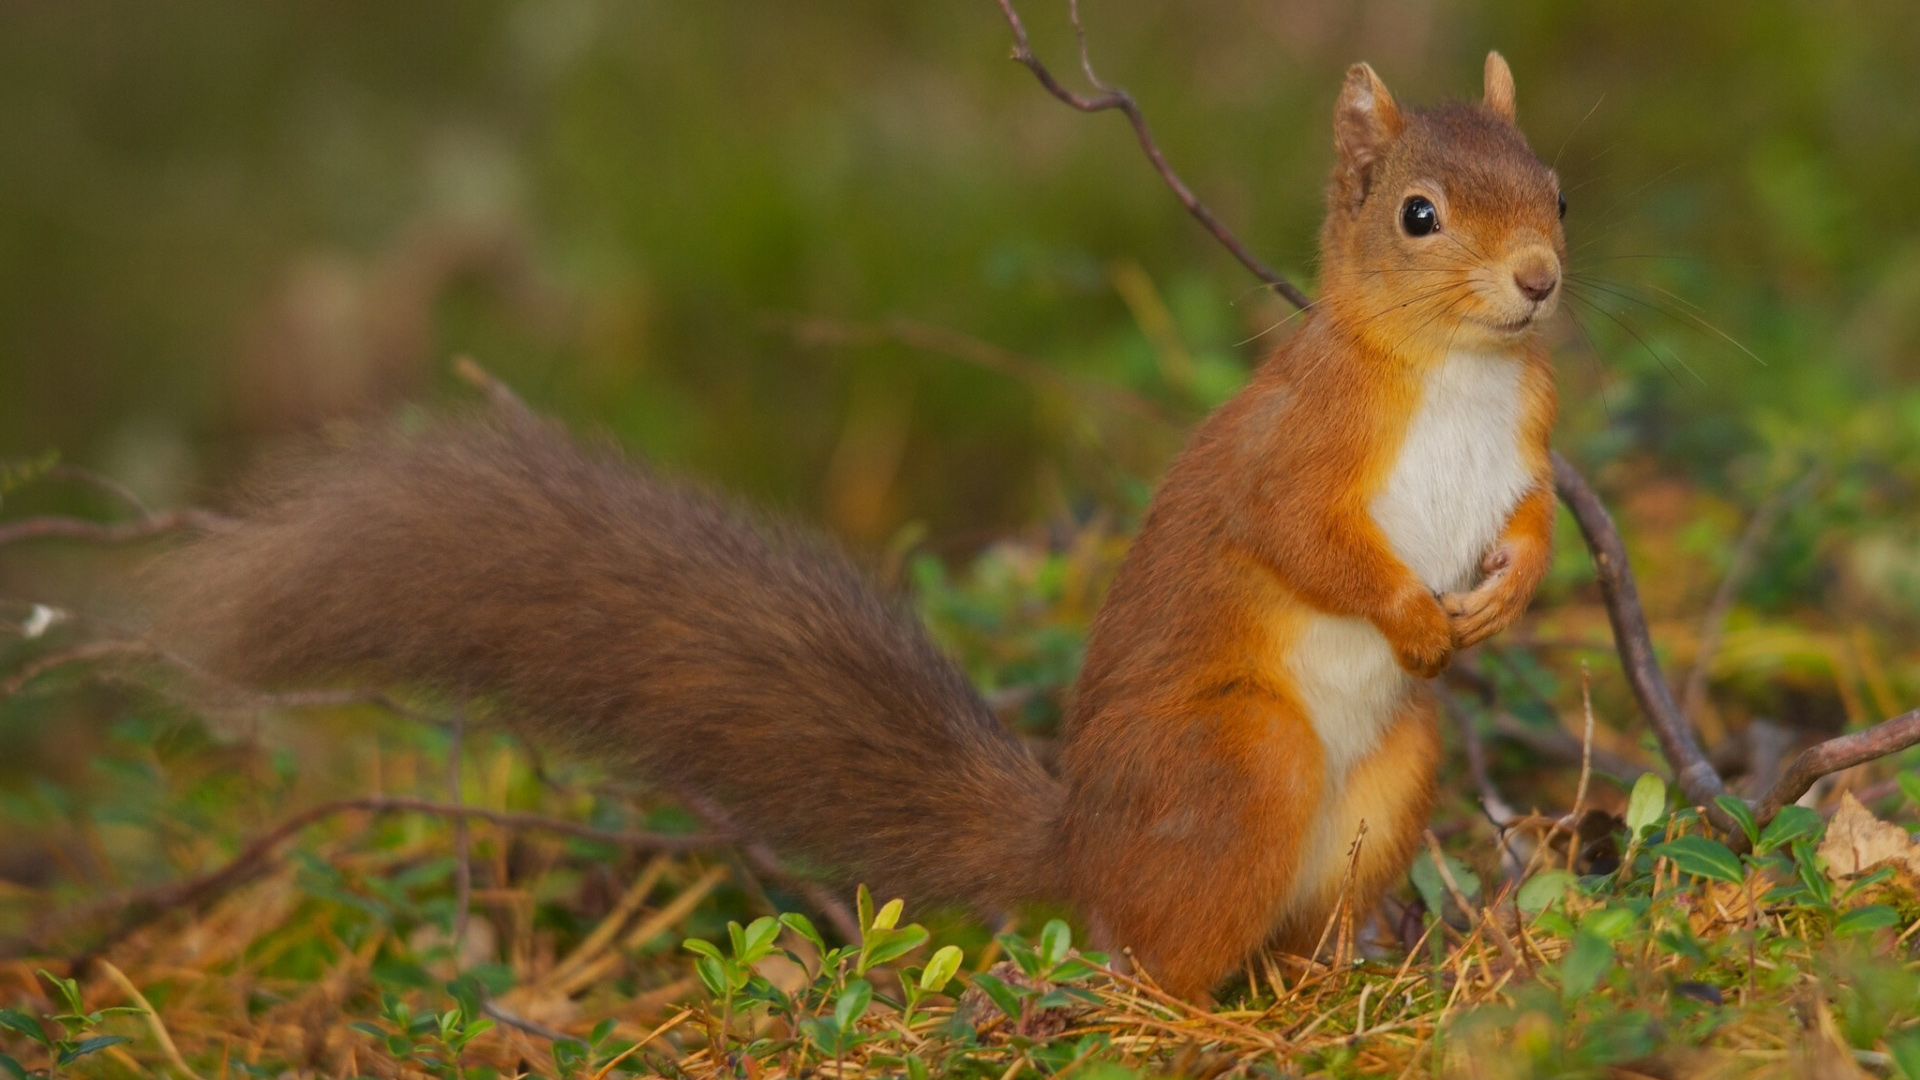
<path id="1" fill-rule="evenodd" d="M 1549 557 L 1565 202 L 1478 104 L 1334 110 L 1321 300 L 1210 415 L 1094 621 L 1060 776 L 833 548 L 530 415 L 363 434 L 179 555 L 159 630 L 255 682 L 490 696 L 881 896 L 1071 903 L 1204 999 L 1309 951 L 1428 817 L 1430 678 Z"/>

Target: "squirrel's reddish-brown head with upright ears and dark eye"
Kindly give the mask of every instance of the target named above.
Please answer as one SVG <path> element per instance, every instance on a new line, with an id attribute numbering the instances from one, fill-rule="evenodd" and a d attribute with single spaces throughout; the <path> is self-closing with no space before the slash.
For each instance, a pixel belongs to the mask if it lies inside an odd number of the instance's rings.
<path id="1" fill-rule="evenodd" d="M 1559 302 L 1559 177 L 1513 123 L 1513 73 L 1486 54 L 1476 104 L 1402 110 L 1356 63 L 1334 108 L 1321 302 L 1394 352 L 1511 350 Z"/>

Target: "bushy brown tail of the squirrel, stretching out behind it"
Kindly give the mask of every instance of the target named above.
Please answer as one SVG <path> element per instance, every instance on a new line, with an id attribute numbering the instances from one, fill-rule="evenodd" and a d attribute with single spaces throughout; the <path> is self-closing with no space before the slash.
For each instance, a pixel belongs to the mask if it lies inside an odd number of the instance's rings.
<path id="1" fill-rule="evenodd" d="M 849 559 L 530 417 L 367 434 L 175 555 L 159 632 L 257 684 L 488 694 L 879 896 L 1058 896 L 1060 786 Z"/>

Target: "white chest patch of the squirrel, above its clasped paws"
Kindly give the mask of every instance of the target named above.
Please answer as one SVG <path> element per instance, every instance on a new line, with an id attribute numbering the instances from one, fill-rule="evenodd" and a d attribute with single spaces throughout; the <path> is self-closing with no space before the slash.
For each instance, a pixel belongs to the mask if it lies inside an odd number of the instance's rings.
<path id="1" fill-rule="evenodd" d="M 1521 457 L 1524 361 L 1455 352 L 1427 373 L 1373 521 L 1394 553 L 1436 592 L 1480 578 L 1532 477 Z"/>

